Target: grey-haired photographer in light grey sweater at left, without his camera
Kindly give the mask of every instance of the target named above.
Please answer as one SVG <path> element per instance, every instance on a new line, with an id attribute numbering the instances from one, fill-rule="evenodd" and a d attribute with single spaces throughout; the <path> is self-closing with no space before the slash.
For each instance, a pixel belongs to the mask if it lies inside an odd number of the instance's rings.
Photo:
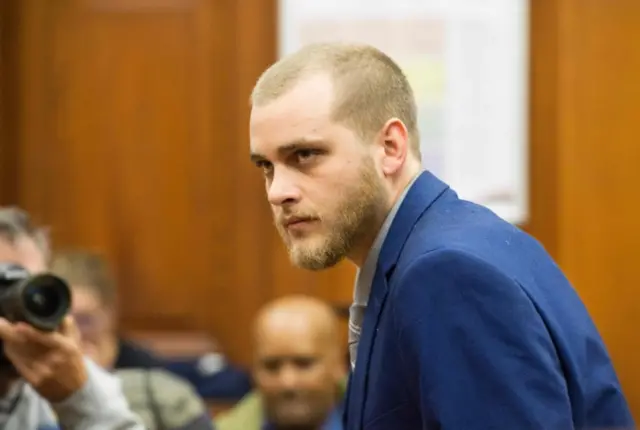
<path id="1" fill-rule="evenodd" d="M 26 213 L 0 208 L 0 263 L 42 273 L 46 245 Z M 0 317 L 0 428 L 144 428 L 118 380 L 83 356 L 71 317 L 51 332 Z"/>

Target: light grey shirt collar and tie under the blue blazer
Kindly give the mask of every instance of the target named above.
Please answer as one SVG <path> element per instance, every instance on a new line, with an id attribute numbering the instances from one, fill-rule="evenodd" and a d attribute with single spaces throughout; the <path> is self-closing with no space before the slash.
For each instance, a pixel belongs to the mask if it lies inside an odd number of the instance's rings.
<path id="1" fill-rule="evenodd" d="M 393 223 L 402 202 L 415 181 L 420 176 L 420 173 L 418 173 L 411 182 L 409 182 L 396 203 L 393 205 L 393 208 L 391 208 L 389 214 L 387 214 L 387 217 L 382 223 L 382 227 L 369 250 L 367 259 L 362 267 L 358 268 L 356 273 L 356 281 L 353 290 L 353 304 L 349 308 L 349 356 L 351 359 L 352 369 L 355 368 L 358 341 L 360 340 L 360 333 L 362 329 L 362 320 L 364 319 L 364 311 L 367 308 L 367 302 L 369 301 L 369 295 L 371 294 L 371 284 L 373 283 L 373 277 L 376 273 L 378 257 L 380 256 L 382 245 L 387 238 L 391 224 Z"/>

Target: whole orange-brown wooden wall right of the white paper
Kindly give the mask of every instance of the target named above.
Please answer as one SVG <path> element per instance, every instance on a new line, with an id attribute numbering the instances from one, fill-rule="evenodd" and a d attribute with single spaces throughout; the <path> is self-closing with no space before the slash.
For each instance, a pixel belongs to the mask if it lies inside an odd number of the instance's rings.
<path id="1" fill-rule="evenodd" d="M 531 2 L 531 222 L 640 416 L 640 3 Z"/>

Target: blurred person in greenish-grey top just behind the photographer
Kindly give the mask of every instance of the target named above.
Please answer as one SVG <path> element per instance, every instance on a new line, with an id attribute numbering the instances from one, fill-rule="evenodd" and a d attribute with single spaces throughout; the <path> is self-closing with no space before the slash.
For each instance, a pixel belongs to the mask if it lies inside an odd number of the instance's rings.
<path id="1" fill-rule="evenodd" d="M 106 261 L 85 251 L 54 255 L 51 272 L 72 289 L 72 314 L 85 354 L 115 371 L 131 408 L 149 429 L 207 430 L 209 411 L 193 387 L 163 370 L 165 362 L 117 332 L 116 287 Z"/>

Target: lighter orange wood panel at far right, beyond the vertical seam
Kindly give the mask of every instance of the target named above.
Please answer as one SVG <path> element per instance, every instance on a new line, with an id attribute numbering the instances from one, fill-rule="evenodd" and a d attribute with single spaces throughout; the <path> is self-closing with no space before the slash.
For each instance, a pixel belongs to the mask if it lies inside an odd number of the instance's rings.
<path id="1" fill-rule="evenodd" d="M 561 2 L 558 254 L 640 417 L 640 3 Z"/>

